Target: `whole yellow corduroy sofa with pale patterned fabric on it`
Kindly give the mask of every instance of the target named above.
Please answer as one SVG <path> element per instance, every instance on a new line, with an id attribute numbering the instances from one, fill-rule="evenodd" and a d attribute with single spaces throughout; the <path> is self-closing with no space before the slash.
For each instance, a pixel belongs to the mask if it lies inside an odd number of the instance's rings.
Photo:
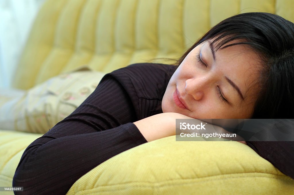
<path id="1" fill-rule="evenodd" d="M 173 63 L 209 28 L 265 11 L 294 22 L 291 0 L 48 0 L 14 76 L 0 93 L 0 186 L 25 148 L 68 116 L 112 70 Z M 163 138 L 123 152 L 81 177 L 72 194 L 285 194 L 294 180 L 238 142 Z M 0 192 L 13 194 L 13 192 Z"/>

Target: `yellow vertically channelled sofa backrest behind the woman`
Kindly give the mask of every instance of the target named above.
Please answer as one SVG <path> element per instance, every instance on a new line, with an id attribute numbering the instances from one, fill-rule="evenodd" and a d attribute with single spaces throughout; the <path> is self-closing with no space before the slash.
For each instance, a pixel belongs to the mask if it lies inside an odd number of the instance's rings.
<path id="1" fill-rule="evenodd" d="M 173 63 L 212 26 L 264 11 L 294 21 L 292 0 L 47 0 L 14 76 L 29 89 L 88 65 L 111 72 L 137 62 Z"/>

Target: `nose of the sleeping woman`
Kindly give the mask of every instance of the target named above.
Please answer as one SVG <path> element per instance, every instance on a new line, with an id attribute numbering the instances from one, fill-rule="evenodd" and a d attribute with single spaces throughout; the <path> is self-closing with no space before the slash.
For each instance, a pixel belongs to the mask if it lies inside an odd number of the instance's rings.
<path id="1" fill-rule="evenodd" d="M 208 91 L 211 79 L 207 77 L 190 78 L 186 80 L 185 91 L 187 94 L 193 96 L 195 100 L 204 98 L 206 91 Z"/>

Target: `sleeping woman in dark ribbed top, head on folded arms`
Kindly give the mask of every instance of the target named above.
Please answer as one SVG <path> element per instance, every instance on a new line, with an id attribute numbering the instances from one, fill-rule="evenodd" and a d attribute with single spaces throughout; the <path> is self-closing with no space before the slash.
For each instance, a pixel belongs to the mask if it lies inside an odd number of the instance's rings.
<path id="1" fill-rule="evenodd" d="M 176 65 L 142 63 L 106 74 L 68 117 L 24 151 L 15 194 L 66 194 L 91 169 L 175 135 L 176 118 L 293 118 L 294 24 L 270 13 L 220 22 Z M 294 178 L 294 142 L 240 141 Z"/>

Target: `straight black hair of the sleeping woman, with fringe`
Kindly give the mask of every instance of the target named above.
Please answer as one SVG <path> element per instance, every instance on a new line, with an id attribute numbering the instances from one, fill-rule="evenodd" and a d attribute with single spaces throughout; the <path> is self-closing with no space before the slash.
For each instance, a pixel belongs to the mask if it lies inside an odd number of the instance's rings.
<path id="1" fill-rule="evenodd" d="M 278 15 L 242 13 L 227 18 L 200 38 L 176 65 L 197 45 L 211 40 L 216 50 L 247 45 L 259 56 L 260 91 L 251 118 L 293 118 L 294 116 L 294 24 Z M 237 42 L 231 41 L 238 40 Z M 225 46 L 224 46 L 225 45 Z"/>

